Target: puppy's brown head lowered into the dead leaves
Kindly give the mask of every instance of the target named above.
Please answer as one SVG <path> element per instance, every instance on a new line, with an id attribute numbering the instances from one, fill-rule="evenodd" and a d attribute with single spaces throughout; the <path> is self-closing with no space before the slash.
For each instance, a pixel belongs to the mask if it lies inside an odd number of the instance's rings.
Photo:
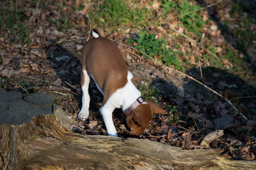
<path id="1" fill-rule="evenodd" d="M 126 122 L 131 130 L 132 135 L 140 135 L 145 129 L 150 129 L 149 121 L 152 119 L 153 114 L 166 113 L 162 108 L 156 104 L 145 101 L 145 104 L 140 104 L 126 117 Z"/>

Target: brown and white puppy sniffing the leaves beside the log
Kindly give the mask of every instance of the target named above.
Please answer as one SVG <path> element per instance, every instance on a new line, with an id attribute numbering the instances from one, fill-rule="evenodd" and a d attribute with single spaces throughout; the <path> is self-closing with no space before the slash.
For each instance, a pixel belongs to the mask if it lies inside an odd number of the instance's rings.
<path id="1" fill-rule="evenodd" d="M 132 73 L 124 63 L 118 46 L 104 37 L 99 27 L 92 30 L 90 39 L 82 52 L 81 87 L 83 106 L 78 117 L 86 120 L 89 115 L 90 96 L 88 87 L 90 76 L 104 95 L 100 113 L 109 136 L 117 136 L 112 112 L 122 108 L 131 134 L 139 135 L 149 129 L 153 113 L 166 113 L 162 108 L 141 98 L 141 92 L 132 83 Z"/>

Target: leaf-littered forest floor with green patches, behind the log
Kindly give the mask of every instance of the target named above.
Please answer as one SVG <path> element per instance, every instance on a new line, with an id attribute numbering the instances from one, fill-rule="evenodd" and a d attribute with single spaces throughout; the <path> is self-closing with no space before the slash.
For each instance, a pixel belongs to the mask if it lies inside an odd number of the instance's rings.
<path id="1" fill-rule="evenodd" d="M 119 137 L 196 149 L 206 148 L 200 145 L 204 137 L 222 129 L 224 135 L 211 148 L 220 148 L 230 159 L 255 160 L 253 1 L 15 2 L 0 3 L 4 90 L 47 92 L 67 111 L 74 132 L 106 134 L 99 113 L 102 95 L 93 82 L 90 117 L 85 122 L 77 118 L 81 50 L 90 30 L 99 26 L 122 51 L 143 97 L 168 111 L 154 115 L 150 129 L 138 137 L 127 132 L 122 111 L 114 111 Z"/>

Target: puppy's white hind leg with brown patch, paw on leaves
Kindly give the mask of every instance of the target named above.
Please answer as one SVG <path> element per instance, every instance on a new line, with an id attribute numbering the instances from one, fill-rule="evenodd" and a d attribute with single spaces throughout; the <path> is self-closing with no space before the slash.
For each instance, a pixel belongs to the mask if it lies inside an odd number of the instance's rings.
<path id="1" fill-rule="evenodd" d="M 90 76 L 88 75 L 86 70 L 83 70 L 81 73 L 81 87 L 83 91 L 83 106 L 81 108 L 80 113 L 78 114 L 78 118 L 81 120 L 86 120 L 89 116 L 89 105 L 90 105 L 90 96 L 88 92 L 90 83 Z"/>

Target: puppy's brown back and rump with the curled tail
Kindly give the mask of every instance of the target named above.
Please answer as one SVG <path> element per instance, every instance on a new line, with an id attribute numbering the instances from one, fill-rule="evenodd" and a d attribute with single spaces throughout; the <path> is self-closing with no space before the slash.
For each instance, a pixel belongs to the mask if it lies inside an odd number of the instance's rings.
<path id="1" fill-rule="evenodd" d="M 119 89 L 127 83 L 128 67 L 118 46 L 102 36 L 105 34 L 99 27 L 91 32 L 82 52 L 83 70 L 87 70 L 88 74 L 93 76 L 103 91 L 109 91 L 109 87 Z M 113 88 L 113 85 L 116 85 L 116 88 Z M 111 94 L 104 94 L 106 95 Z"/>

